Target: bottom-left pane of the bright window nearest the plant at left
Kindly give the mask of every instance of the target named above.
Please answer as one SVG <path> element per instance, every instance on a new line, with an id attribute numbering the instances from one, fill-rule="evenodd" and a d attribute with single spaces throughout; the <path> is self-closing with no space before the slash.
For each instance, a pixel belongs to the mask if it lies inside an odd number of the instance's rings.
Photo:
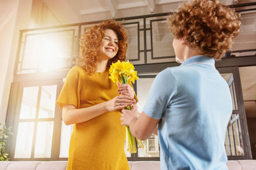
<path id="1" fill-rule="evenodd" d="M 34 132 L 34 122 L 20 122 L 14 158 L 30 158 Z"/>

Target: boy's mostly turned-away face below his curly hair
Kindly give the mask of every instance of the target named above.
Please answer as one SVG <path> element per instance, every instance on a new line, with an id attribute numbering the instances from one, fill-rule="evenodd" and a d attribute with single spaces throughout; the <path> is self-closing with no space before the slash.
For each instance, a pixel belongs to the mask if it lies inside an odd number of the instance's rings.
<path id="1" fill-rule="evenodd" d="M 179 62 L 179 63 L 184 62 L 184 50 L 185 50 L 184 40 L 173 38 L 172 46 L 174 49 L 176 62 Z"/>

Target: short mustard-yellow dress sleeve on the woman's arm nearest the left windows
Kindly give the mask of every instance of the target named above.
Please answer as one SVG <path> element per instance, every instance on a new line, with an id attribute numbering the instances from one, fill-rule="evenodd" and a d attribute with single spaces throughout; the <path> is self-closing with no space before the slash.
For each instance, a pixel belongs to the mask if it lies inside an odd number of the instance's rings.
<path id="1" fill-rule="evenodd" d="M 79 67 L 72 67 L 65 78 L 65 83 L 60 92 L 56 104 L 63 108 L 63 104 L 71 104 L 77 108 L 79 106 Z"/>

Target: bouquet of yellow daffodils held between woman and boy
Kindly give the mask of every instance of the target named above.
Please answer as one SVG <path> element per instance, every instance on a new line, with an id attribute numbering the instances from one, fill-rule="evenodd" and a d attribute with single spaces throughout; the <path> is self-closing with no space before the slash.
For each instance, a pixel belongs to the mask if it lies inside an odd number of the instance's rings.
<path id="1" fill-rule="evenodd" d="M 135 80 L 138 80 L 137 71 L 134 71 L 134 66 L 127 60 L 127 62 L 118 62 L 112 63 L 112 65 L 109 68 L 110 76 L 109 78 L 114 82 L 120 82 L 122 84 L 134 83 Z M 126 110 L 131 110 L 131 106 L 126 106 Z M 136 139 L 138 143 L 138 147 L 143 148 L 143 143 L 140 139 Z M 131 131 L 129 130 L 129 127 L 126 127 L 126 149 L 130 153 L 136 153 L 136 143 L 135 138 L 131 134 Z"/>

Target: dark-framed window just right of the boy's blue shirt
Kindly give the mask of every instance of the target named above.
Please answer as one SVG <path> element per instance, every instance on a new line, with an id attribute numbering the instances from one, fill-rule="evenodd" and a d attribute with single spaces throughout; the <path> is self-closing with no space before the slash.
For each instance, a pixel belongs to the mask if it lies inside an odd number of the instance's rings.
<path id="1" fill-rule="evenodd" d="M 228 83 L 233 105 L 225 139 L 228 159 L 252 159 L 238 67 L 220 67 L 218 71 Z"/>

